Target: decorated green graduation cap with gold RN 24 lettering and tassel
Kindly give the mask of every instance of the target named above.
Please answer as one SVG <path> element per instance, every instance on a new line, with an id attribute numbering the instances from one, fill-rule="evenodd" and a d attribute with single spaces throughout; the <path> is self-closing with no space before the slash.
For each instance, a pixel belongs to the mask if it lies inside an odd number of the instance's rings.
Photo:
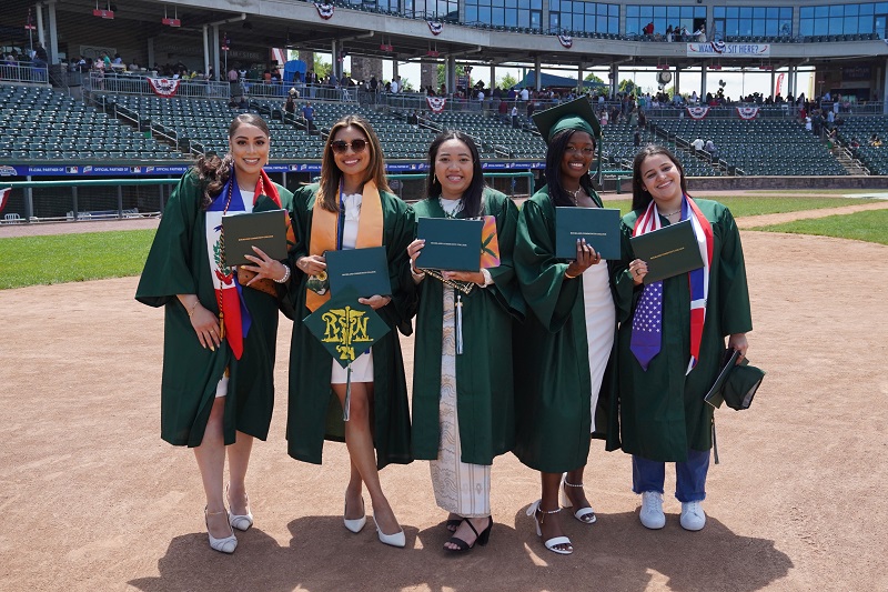
<path id="1" fill-rule="evenodd" d="M 349 421 L 352 394 L 352 362 L 390 331 L 370 305 L 357 302 L 357 294 L 336 294 L 304 320 L 309 332 L 342 368 L 347 369 L 343 421 Z"/>

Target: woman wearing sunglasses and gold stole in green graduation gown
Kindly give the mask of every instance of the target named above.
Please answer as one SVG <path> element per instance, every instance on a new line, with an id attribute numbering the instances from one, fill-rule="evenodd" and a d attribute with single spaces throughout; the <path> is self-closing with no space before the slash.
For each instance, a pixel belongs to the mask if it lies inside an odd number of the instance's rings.
<path id="1" fill-rule="evenodd" d="M 412 332 L 408 308 L 414 288 L 406 249 L 414 221 L 413 210 L 389 191 L 382 148 L 365 119 L 349 116 L 333 126 L 324 146 L 321 182 L 296 192 L 293 220 L 297 241 L 290 260 L 295 267 L 291 288 L 296 322 L 290 354 L 290 455 L 320 463 L 324 438 L 344 437 L 351 456 L 345 526 L 355 533 L 364 528 L 366 485 L 380 540 L 404 546 L 404 531 L 382 492 L 377 469 L 412 460 L 397 330 Z M 392 295 L 360 302 L 372 307 L 392 331 L 352 363 L 350 419 L 343 425 L 346 373 L 301 320 L 331 297 L 323 284 L 326 251 L 379 245 L 385 247 L 389 259 Z"/>

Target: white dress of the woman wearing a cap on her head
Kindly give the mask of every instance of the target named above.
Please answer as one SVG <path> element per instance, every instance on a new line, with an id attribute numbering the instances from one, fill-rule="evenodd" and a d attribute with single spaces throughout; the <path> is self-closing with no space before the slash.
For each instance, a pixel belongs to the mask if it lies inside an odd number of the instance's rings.
<path id="1" fill-rule="evenodd" d="M 614 347 L 616 311 L 610 295 L 610 275 L 603 259 L 583 272 L 583 300 L 586 307 L 586 341 L 589 349 L 589 375 L 592 377 L 592 429 L 595 430 L 595 408 L 602 390 L 604 370 Z"/>

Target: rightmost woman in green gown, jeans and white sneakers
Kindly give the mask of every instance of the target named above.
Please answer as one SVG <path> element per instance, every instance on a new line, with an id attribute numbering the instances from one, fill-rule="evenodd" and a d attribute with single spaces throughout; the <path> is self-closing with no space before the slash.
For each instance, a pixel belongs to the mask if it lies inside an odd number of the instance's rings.
<path id="1" fill-rule="evenodd" d="M 753 330 L 740 234 L 727 208 L 687 194 L 682 163 L 669 150 L 648 146 L 633 163 L 633 211 L 623 217 L 618 270 L 634 293 L 620 294 L 619 395 L 623 450 L 633 455 L 633 491 L 648 529 L 666 524 L 665 463 L 676 463 L 680 524 L 700 530 L 706 514 L 713 408 L 704 397 L 715 382 L 727 347 L 746 355 Z M 630 238 L 689 221 L 704 267 L 644 284 L 647 263 Z"/>

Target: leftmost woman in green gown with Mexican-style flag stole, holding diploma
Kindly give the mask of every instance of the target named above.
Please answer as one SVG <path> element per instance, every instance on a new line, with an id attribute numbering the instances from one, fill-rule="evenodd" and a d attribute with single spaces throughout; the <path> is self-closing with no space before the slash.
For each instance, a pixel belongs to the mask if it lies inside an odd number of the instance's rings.
<path id="1" fill-rule="evenodd" d="M 161 437 L 194 448 L 210 546 L 223 553 L 238 545 L 232 526 L 253 523 L 244 478 L 253 439 L 269 433 L 278 298 L 291 269 L 259 250 L 254 265 L 226 265 L 221 221 L 226 213 L 290 209 L 292 194 L 262 170 L 270 147 L 262 118 L 234 118 L 229 153 L 201 157 L 170 195 L 135 293 L 165 309 Z"/>

